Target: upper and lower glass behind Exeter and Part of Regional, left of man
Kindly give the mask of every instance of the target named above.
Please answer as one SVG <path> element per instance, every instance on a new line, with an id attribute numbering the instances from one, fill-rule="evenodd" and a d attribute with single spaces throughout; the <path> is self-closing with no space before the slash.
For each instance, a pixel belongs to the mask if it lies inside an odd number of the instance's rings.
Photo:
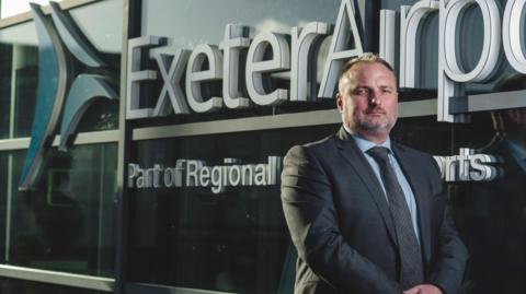
<path id="1" fill-rule="evenodd" d="M 340 1 L 142 1 L 141 35 L 168 37 L 168 46 L 150 50 L 149 67 L 157 54 L 192 50 L 201 44 L 218 46 L 227 24 L 251 26 L 252 37 L 263 32 L 290 34 L 293 26 L 308 22 L 334 23 Z M 199 15 L 196 17 L 196 15 Z M 315 79 L 319 83 L 330 38 L 320 45 Z M 266 55 L 270 56 L 268 54 Z M 240 62 L 244 64 L 247 50 Z M 318 75 L 318 77 L 317 77 Z M 240 67 L 239 77 L 244 77 Z M 184 80 L 184 78 L 183 78 Z M 244 80 L 240 79 L 240 80 Z M 243 84 L 244 82 L 241 82 Z M 289 72 L 265 75 L 268 91 L 289 87 Z M 162 81 L 146 85 L 145 98 L 155 105 Z M 184 89 L 184 83 L 183 83 Z M 220 94 L 220 81 L 204 85 L 206 93 Z M 248 96 L 244 86 L 241 86 Z M 333 108 L 332 99 L 297 102 L 273 107 L 220 109 L 211 114 L 169 115 L 130 121 L 130 127 L 213 121 L 294 111 Z M 281 158 L 293 144 L 319 139 L 338 126 L 275 131 L 249 131 L 134 142 L 130 163 L 140 168 L 171 167 L 182 161 L 215 166 L 266 164 Z M 132 170 L 128 170 L 130 173 Z M 279 173 L 279 172 L 277 172 Z M 278 177 L 278 175 L 277 175 Z M 137 180 L 137 179 L 135 179 Z M 161 181 L 163 179 L 160 179 Z M 137 184 L 137 183 L 135 183 Z M 218 189 L 219 190 L 219 189 Z M 132 282 L 164 284 L 237 293 L 290 293 L 295 250 L 285 226 L 278 183 L 268 186 L 164 187 L 130 189 L 129 279 Z"/>

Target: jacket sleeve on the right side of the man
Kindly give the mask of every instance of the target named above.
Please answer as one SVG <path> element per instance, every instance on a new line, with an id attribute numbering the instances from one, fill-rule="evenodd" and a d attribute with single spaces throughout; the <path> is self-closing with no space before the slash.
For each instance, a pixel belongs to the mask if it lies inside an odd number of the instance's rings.
<path id="1" fill-rule="evenodd" d="M 442 187 L 442 179 L 438 175 L 436 178 L 435 183 L 438 181 L 438 186 Z M 444 294 L 456 294 L 460 292 L 468 250 L 455 227 L 447 195 L 442 191 L 433 201 L 443 217 L 436 232 L 438 234 L 436 258 L 427 280 L 428 283 L 441 287 Z"/>

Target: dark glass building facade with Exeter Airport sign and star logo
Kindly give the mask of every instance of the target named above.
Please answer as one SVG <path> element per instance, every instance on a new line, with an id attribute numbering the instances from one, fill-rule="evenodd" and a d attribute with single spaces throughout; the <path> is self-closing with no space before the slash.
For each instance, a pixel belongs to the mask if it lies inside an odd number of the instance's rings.
<path id="1" fill-rule="evenodd" d="M 526 292 L 524 1 L 65 0 L 0 21 L 0 293 L 293 293 L 284 154 L 396 69 L 462 293 Z"/>

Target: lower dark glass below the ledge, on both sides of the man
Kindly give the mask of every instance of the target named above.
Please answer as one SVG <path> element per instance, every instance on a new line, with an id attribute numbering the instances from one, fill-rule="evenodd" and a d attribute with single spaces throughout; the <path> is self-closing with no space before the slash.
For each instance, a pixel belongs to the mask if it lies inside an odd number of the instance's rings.
<path id="1" fill-rule="evenodd" d="M 461 125 L 438 124 L 434 116 L 402 118 L 391 134 L 433 155 L 458 156 L 460 149 L 472 149 L 474 154 L 499 160 L 491 164 L 499 170 L 491 181 L 457 178 L 445 183 L 457 227 L 470 251 L 464 293 L 526 290 L 523 120 L 523 109 L 473 114 L 469 124 Z M 267 156 L 283 156 L 294 144 L 331 136 L 339 127 L 138 141 L 133 163 L 145 170 L 156 165 L 178 166 L 181 160 L 203 161 L 206 166 L 221 165 L 225 158 L 264 163 Z M 227 187 L 218 193 L 210 187 L 135 187 L 129 197 L 133 281 L 224 292 L 291 293 L 295 250 L 278 186 Z"/>

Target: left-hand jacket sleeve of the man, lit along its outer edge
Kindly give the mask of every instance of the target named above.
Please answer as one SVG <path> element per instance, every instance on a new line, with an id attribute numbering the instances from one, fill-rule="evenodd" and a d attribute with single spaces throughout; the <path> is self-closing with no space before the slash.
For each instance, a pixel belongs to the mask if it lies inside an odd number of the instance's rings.
<path id="1" fill-rule="evenodd" d="M 402 293 L 396 281 L 345 242 L 332 189 L 319 158 L 308 148 L 295 146 L 287 153 L 282 202 L 298 257 L 338 292 Z"/>

